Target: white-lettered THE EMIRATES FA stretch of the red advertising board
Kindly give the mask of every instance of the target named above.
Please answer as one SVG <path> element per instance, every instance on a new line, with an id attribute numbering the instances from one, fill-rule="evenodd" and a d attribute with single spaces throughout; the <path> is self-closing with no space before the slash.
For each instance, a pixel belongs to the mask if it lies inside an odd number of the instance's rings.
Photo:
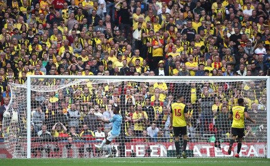
<path id="1" fill-rule="evenodd" d="M 237 147 L 237 144 L 234 146 Z M 145 150 L 152 150 L 151 157 L 167 157 L 168 150 L 174 150 L 173 143 L 130 143 L 125 146 L 126 156 L 133 150 L 137 157 L 143 157 Z M 235 148 L 231 155 L 228 155 L 229 143 L 221 144 L 221 150 L 213 146 L 213 143 L 188 143 L 187 150 L 193 150 L 194 157 L 232 157 L 235 155 Z M 265 157 L 266 149 L 264 143 L 243 143 L 240 156 L 242 157 Z"/>

